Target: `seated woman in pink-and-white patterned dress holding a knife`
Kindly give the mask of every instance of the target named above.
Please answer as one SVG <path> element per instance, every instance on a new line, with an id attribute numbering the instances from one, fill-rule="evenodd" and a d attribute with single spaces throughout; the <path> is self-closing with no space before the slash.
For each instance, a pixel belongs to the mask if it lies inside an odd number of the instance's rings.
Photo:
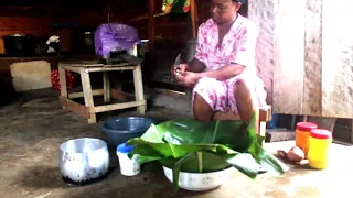
<path id="1" fill-rule="evenodd" d="M 207 122 L 229 108 L 244 122 L 266 107 L 263 80 L 256 75 L 258 29 L 237 11 L 245 0 L 212 0 L 212 19 L 200 25 L 193 61 L 172 67 L 179 84 L 193 88 L 194 118 Z"/>

